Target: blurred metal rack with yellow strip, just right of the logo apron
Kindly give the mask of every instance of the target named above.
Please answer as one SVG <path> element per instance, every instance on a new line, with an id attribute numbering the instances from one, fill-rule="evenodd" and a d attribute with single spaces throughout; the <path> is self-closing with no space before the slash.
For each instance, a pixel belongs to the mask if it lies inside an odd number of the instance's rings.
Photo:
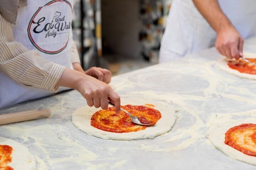
<path id="1" fill-rule="evenodd" d="M 80 1 L 81 63 L 84 69 L 99 66 L 101 50 L 101 0 Z"/>

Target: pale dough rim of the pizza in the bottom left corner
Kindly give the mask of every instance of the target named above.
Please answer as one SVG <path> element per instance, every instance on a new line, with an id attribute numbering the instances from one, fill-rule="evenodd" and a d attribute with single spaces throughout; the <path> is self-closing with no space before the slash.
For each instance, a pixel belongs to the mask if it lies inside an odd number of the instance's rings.
<path id="1" fill-rule="evenodd" d="M 27 147 L 21 145 L 8 138 L 0 137 L 0 145 L 9 145 L 12 147 L 12 161 L 8 163 L 8 166 L 14 170 L 34 170 L 36 168 L 36 161 L 33 155 L 30 154 Z"/>

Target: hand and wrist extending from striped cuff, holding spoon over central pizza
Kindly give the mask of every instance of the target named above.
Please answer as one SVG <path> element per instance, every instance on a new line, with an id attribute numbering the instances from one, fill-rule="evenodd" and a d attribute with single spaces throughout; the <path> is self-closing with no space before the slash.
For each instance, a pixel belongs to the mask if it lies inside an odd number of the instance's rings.
<path id="1" fill-rule="evenodd" d="M 116 112 L 120 111 L 119 95 L 106 83 L 85 73 L 66 68 L 56 85 L 76 89 L 86 99 L 90 107 L 107 109 L 109 100 L 115 104 Z"/>

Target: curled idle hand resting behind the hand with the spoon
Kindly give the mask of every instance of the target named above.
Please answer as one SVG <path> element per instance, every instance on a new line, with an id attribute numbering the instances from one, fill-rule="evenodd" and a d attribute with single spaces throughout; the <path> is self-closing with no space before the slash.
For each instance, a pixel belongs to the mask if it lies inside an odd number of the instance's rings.
<path id="1" fill-rule="evenodd" d="M 90 69 L 85 71 L 85 74 L 88 76 L 92 76 L 104 83 L 110 83 L 111 80 L 111 72 L 107 69 L 103 69 L 100 67 L 91 67 Z"/>

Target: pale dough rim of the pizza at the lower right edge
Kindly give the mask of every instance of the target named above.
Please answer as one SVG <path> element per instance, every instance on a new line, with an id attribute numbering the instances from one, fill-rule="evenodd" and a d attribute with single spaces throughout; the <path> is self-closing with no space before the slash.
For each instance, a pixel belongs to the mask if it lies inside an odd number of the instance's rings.
<path id="1" fill-rule="evenodd" d="M 228 131 L 230 128 L 234 126 L 241 125 L 243 123 L 255 124 L 256 119 L 248 118 L 238 120 L 216 121 L 216 123 L 209 128 L 207 138 L 210 140 L 214 147 L 221 150 L 223 153 L 232 157 L 233 159 L 237 159 L 242 162 L 256 165 L 255 156 L 246 155 L 224 143 L 226 131 Z"/>

